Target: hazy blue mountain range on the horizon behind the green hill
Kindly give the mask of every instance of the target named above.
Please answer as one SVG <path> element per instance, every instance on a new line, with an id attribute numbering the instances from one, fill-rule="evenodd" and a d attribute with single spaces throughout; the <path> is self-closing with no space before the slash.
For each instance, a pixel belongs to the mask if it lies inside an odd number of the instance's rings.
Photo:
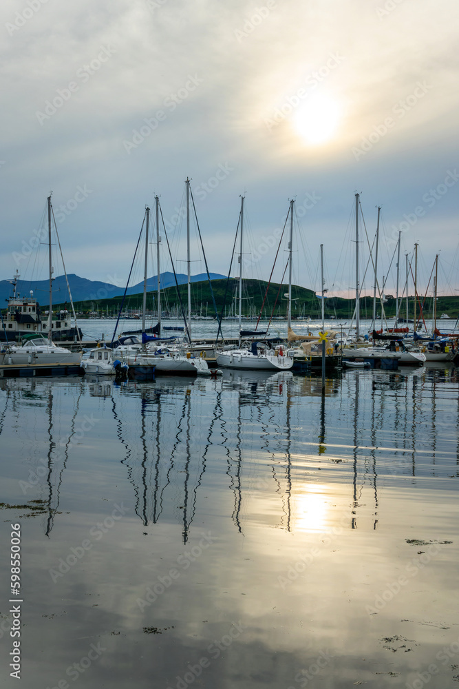
<path id="1" fill-rule="evenodd" d="M 219 273 L 211 273 L 211 280 L 225 279 L 225 275 Z M 72 291 L 72 298 L 74 302 L 95 301 L 97 299 L 109 299 L 124 294 L 125 287 L 116 287 L 110 282 L 99 282 L 98 280 L 87 280 L 80 278 L 78 275 L 70 274 L 68 276 L 70 290 Z M 207 280 L 206 273 L 199 275 L 192 275 L 191 282 L 201 282 Z M 177 274 L 177 281 L 179 285 L 186 283 L 186 275 Z M 162 288 L 172 287 L 175 285 L 173 273 L 162 273 L 160 278 L 160 285 Z M 29 296 L 30 290 L 33 290 L 34 297 L 41 306 L 46 306 L 50 303 L 49 281 L 48 280 L 18 280 L 17 290 L 21 296 Z M 158 289 L 157 276 L 148 278 L 147 290 L 152 291 Z M 143 291 L 143 280 L 137 285 L 129 287 L 127 294 L 140 294 Z M 0 307 L 6 307 L 8 297 L 12 296 L 12 285 L 8 280 L 0 280 Z M 60 275 L 55 278 L 52 289 L 52 300 L 54 304 L 62 304 L 65 301 L 70 301 L 65 283 L 65 276 Z"/>

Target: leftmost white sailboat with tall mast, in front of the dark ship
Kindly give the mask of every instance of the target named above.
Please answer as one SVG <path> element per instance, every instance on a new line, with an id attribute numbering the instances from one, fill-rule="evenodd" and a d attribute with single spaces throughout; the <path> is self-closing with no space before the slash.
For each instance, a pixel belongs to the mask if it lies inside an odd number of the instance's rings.
<path id="1" fill-rule="evenodd" d="M 51 196 L 47 197 L 47 220 L 48 220 L 48 260 L 49 260 L 49 275 L 50 275 L 50 307 L 49 316 L 47 324 L 41 325 L 41 329 L 36 332 L 29 331 L 27 334 L 23 335 L 21 338 L 21 345 L 15 346 L 10 345 L 8 352 L 5 355 L 5 360 L 8 364 L 69 364 L 78 365 L 81 362 L 82 352 L 72 352 L 70 349 L 65 349 L 65 347 L 58 347 L 52 341 L 53 325 L 52 320 L 52 274 L 54 268 L 52 267 L 52 243 L 51 243 L 51 218 L 52 218 L 52 205 Z M 14 282 L 14 295 L 16 295 L 16 285 L 17 278 Z M 68 285 L 68 282 L 67 282 Z M 18 295 L 19 296 L 19 295 Z M 32 298 L 32 294 L 29 299 L 23 301 L 23 316 L 25 316 L 25 311 L 29 309 L 29 312 L 37 318 L 37 305 L 36 300 Z M 72 304 L 73 306 L 73 304 Z M 12 307 L 9 307 L 12 308 Z M 19 313 L 21 316 L 21 313 Z M 25 316 L 25 325 L 29 327 L 34 325 L 34 330 L 38 328 L 37 322 L 27 322 L 27 316 Z M 32 319 L 33 320 L 33 319 Z M 7 323 L 7 325 L 10 325 Z M 61 325 L 61 322 L 59 322 Z M 47 330 L 47 338 L 44 332 Z"/>

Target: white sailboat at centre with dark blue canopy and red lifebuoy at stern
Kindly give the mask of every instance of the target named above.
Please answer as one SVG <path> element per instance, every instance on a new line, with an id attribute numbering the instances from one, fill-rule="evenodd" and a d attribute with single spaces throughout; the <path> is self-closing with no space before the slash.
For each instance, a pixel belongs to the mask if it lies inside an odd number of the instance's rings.
<path id="1" fill-rule="evenodd" d="M 273 351 L 268 345 L 252 342 L 250 349 L 241 347 L 242 327 L 242 256 L 244 229 L 244 196 L 241 196 L 240 236 L 239 236 L 239 349 L 216 353 L 217 366 L 226 369 L 248 369 L 250 371 L 288 371 L 293 366 L 293 359 L 284 354 L 282 347 Z M 291 253 L 290 253 L 291 260 Z M 291 297 L 291 291 L 290 291 Z M 289 304 L 291 298 L 289 298 Z M 256 333 L 254 333 L 256 334 Z"/>

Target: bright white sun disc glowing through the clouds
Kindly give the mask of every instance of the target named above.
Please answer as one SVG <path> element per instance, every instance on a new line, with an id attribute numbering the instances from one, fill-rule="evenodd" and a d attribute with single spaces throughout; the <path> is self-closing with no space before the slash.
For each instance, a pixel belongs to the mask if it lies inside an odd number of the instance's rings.
<path id="1" fill-rule="evenodd" d="M 338 101 L 324 94 L 309 96 L 297 110 L 294 125 L 304 141 L 312 146 L 327 143 L 337 132 L 341 119 Z"/>

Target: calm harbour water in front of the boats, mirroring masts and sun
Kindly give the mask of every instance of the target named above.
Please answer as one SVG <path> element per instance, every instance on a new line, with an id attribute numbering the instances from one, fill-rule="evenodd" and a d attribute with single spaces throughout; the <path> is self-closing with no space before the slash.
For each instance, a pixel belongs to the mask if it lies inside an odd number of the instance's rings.
<path id="1" fill-rule="evenodd" d="M 26 689 L 456 686 L 458 390 L 1 380 L 3 683 L 19 523 Z"/>

